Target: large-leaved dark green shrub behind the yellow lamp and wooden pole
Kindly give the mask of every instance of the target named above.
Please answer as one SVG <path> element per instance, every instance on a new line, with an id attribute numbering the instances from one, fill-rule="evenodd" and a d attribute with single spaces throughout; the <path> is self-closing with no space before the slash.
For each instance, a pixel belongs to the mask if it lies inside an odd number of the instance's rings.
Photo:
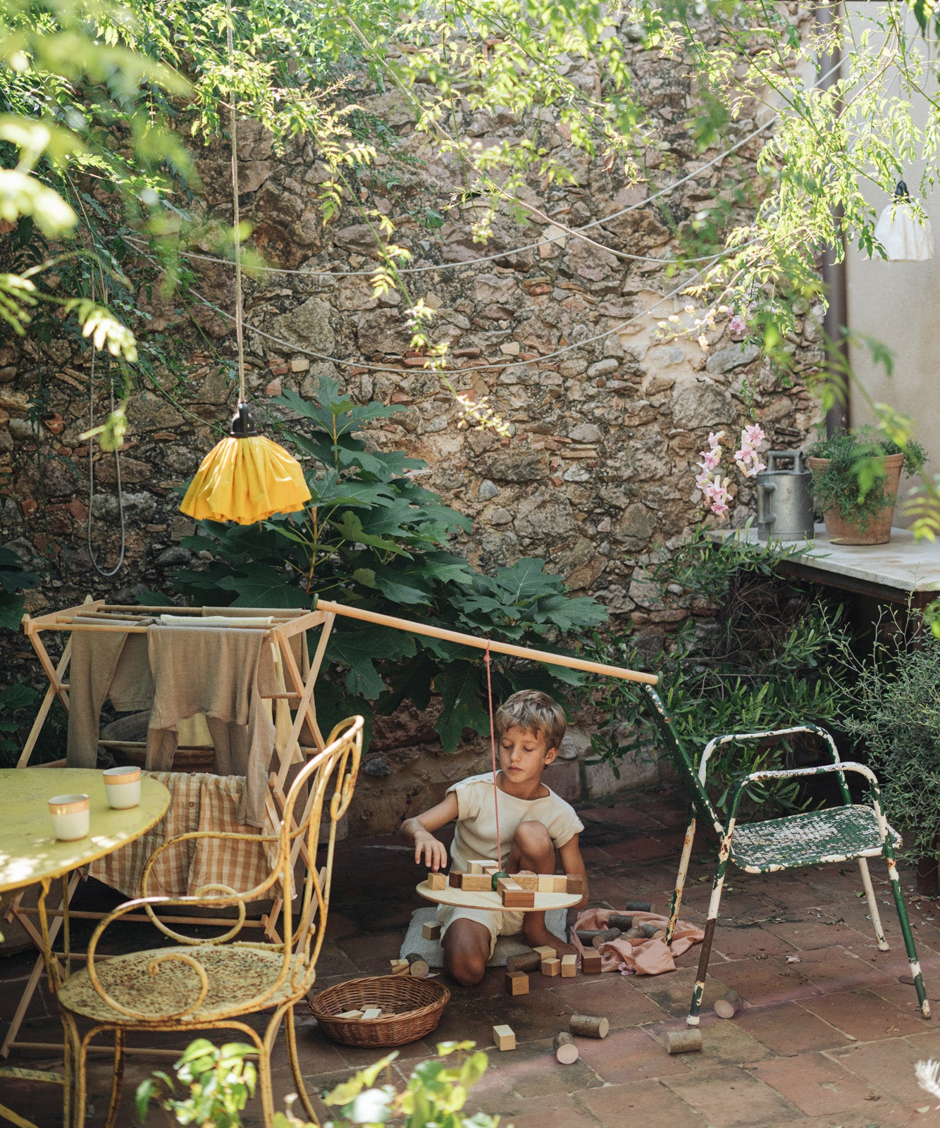
<path id="1" fill-rule="evenodd" d="M 310 606 L 318 596 L 546 650 L 557 649 L 559 635 L 606 620 L 592 599 L 568 597 L 541 559 L 484 575 L 451 550 L 454 535 L 471 522 L 418 484 L 413 472 L 424 464 L 370 450 L 357 437 L 367 422 L 402 408 L 354 404 L 328 379 L 311 400 L 289 393 L 280 404 L 295 416 L 285 434 L 308 459 L 311 500 L 302 513 L 260 526 L 203 522 L 183 544 L 213 559 L 175 573 L 186 596 L 236 607 Z M 372 702 L 381 712 L 405 699 L 424 708 L 434 691 L 443 703 L 437 730 L 453 751 L 464 729 L 489 732 L 482 658 L 466 646 L 340 617 L 327 650 L 332 681 L 318 696 L 323 723 L 351 712 L 369 715 Z M 557 693 L 580 678 L 494 654 L 492 680 L 499 699 L 526 687 Z"/>

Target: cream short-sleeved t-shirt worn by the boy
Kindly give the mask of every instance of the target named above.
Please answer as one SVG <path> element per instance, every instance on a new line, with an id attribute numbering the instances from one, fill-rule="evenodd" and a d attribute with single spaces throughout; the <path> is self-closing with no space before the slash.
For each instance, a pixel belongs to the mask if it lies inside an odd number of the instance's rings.
<path id="1" fill-rule="evenodd" d="M 502 773 L 500 773 L 502 774 Z M 551 787 L 539 799 L 517 799 L 497 790 L 500 811 L 500 865 L 509 861 L 512 836 L 520 822 L 541 822 L 548 831 L 555 849 L 585 829 L 574 808 Z M 457 796 L 457 829 L 450 847 L 450 867 L 465 871 L 467 863 L 478 858 L 497 861 L 497 819 L 493 805 L 493 776 L 468 776 L 447 788 Z"/>

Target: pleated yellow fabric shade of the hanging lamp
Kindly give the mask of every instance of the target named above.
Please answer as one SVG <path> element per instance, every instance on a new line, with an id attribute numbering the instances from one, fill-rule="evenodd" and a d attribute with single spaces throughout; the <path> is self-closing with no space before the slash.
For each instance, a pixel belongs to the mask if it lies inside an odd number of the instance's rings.
<path id="1" fill-rule="evenodd" d="M 309 500 L 304 470 L 283 447 L 260 434 L 231 435 L 203 458 L 179 508 L 196 521 L 254 525 Z"/>

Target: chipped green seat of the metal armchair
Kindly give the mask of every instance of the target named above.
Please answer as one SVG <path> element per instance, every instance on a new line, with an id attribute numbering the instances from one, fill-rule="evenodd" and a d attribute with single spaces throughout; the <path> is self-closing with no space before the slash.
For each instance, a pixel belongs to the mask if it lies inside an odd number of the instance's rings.
<path id="1" fill-rule="evenodd" d="M 891 845 L 901 846 L 897 831 L 888 827 L 888 832 Z M 748 873 L 878 857 L 880 853 L 881 835 L 875 811 L 860 805 L 748 822 L 735 827 L 731 837 L 731 861 Z"/>

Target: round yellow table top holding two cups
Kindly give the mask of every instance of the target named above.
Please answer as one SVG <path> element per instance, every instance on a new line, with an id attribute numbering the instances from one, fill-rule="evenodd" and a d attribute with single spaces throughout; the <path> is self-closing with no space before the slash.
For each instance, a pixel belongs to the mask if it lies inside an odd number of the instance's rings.
<path id="1" fill-rule="evenodd" d="M 90 801 L 91 829 L 85 838 L 59 841 L 52 834 L 49 800 L 81 793 Z M 104 777 L 97 768 L 3 768 L 0 804 L 2 892 L 58 878 L 140 838 L 166 813 L 169 792 L 143 776 L 140 803 L 115 811 L 107 805 Z"/>

